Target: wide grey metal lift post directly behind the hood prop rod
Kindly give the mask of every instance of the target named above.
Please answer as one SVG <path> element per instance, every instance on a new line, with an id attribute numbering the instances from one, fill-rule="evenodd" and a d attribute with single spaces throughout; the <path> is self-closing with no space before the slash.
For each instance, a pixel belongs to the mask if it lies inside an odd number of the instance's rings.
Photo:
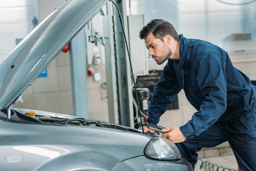
<path id="1" fill-rule="evenodd" d="M 115 3 L 122 13 L 125 34 L 128 36 L 125 1 L 115 1 Z M 109 120 L 112 123 L 134 127 L 132 77 L 122 26 L 116 7 L 113 7 L 113 4 L 109 2 L 107 10 L 108 15 L 103 16 L 103 27 L 106 44 L 105 60 Z"/>

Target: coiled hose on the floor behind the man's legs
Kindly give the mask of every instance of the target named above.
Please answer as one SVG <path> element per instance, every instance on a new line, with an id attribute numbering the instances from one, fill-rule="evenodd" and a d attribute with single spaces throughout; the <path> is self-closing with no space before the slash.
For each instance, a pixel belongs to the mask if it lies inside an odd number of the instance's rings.
<path id="1" fill-rule="evenodd" d="M 204 169 L 205 171 L 238 171 L 238 169 L 233 169 L 233 168 L 228 168 L 228 167 L 223 167 L 223 166 L 218 166 L 218 164 L 211 163 L 209 161 L 203 161 L 203 159 L 197 159 L 197 164 L 198 162 L 201 161 L 202 164 L 200 165 L 200 169 Z"/>

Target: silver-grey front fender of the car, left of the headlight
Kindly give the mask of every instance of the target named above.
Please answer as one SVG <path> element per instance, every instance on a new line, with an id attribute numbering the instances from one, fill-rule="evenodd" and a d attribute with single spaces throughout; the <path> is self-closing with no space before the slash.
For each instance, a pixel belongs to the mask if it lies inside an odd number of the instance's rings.
<path id="1" fill-rule="evenodd" d="M 8 119 L 0 119 L 0 125 L 4 128 L 0 151 L 2 158 L 6 157 L 0 160 L 3 170 L 111 170 L 123 160 L 144 155 L 144 147 L 152 138 L 96 126 L 25 125 Z M 11 156 L 19 156 L 21 161 L 8 163 Z"/>

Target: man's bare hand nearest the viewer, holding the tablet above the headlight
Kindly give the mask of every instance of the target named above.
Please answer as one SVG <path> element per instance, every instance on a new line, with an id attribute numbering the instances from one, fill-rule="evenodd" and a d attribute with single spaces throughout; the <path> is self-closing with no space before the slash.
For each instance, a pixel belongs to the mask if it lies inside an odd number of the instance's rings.
<path id="1" fill-rule="evenodd" d="M 186 140 L 184 135 L 181 133 L 180 128 L 176 126 L 168 127 L 162 130 L 163 132 L 167 132 L 163 134 L 163 137 L 168 138 L 169 140 L 173 141 L 174 143 L 183 142 Z"/>

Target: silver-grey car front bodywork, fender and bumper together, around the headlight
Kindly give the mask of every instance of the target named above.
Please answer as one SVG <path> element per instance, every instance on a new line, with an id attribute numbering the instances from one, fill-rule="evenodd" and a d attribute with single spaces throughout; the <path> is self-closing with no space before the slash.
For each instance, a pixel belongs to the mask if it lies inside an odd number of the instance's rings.
<path id="1" fill-rule="evenodd" d="M 156 161 L 144 156 L 146 144 L 159 135 L 142 134 L 137 129 L 118 125 L 121 131 L 109 126 L 114 124 L 97 120 L 94 121 L 108 126 L 13 120 L 20 115 L 29 117 L 25 112 L 31 111 L 38 114 L 34 119 L 49 116 L 61 117 L 60 120 L 78 119 L 26 109 L 12 109 L 11 119 L 6 119 L 7 114 L 0 112 L 0 165 L 3 170 L 191 170 L 184 159 Z"/>

